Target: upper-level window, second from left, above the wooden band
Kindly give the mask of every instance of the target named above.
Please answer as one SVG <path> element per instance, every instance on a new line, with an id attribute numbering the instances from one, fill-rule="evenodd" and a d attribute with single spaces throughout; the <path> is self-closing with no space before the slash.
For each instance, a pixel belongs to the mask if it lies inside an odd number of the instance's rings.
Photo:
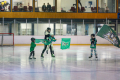
<path id="1" fill-rule="evenodd" d="M 16 12 L 32 12 L 33 0 L 12 0 L 12 11 Z"/>

